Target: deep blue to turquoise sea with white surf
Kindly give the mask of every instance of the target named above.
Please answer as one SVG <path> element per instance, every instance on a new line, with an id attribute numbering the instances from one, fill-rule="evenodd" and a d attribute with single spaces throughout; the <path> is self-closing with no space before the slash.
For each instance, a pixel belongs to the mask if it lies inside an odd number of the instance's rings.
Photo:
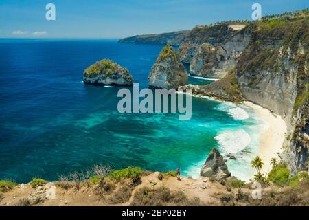
<path id="1" fill-rule="evenodd" d="M 175 170 L 197 177 L 214 146 L 232 175 L 249 179 L 262 124 L 252 109 L 192 98 L 192 119 L 174 113 L 117 111 L 120 87 L 82 83 L 102 58 L 129 69 L 140 88 L 163 45 L 116 40 L 0 39 L 0 179 L 56 180 L 93 164 Z M 192 84 L 211 83 L 190 77 Z M 246 148 L 251 153 L 242 153 Z M 247 164 L 247 166 L 244 166 Z"/>

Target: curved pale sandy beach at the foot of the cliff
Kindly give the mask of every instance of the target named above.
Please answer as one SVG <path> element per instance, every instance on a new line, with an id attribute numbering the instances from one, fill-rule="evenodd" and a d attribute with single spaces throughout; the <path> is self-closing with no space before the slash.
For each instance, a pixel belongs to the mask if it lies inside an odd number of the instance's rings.
<path id="1" fill-rule="evenodd" d="M 252 102 L 245 102 L 247 106 L 255 110 L 258 116 L 267 124 L 265 131 L 260 136 L 260 157 L 264 162 L 261 172 L 267 175 L 271 170 L 271 158 L 278 158 L 282 153 L 282 144 L 286 136 L 286 123 L 279 116 L 271 113 L 268 109 Z"/>

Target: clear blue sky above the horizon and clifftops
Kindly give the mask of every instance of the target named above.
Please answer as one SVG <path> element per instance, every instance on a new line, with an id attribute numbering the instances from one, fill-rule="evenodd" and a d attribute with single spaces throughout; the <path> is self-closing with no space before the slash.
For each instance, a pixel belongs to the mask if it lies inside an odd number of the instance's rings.
<path id="1" fill-rule="evenodd" d="M 56 21 L 45 19 L 45 5 L 56 5 Z M 262 14 L 308 7 L 308 0 L 0 0 L 0 37 L 121 38 L 191 30 L 222 20 L 251 19 L 251 5 Z"/>

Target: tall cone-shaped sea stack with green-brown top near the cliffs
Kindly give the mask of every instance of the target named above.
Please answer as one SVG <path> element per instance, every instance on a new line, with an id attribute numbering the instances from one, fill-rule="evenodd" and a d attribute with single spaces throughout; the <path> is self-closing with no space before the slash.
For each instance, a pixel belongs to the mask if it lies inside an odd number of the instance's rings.
<path id="1" fill-rule="evenodd" d="M 187 84 L 187 71 L 170 45 L 163 47 L 148 76 L 149 87 L 178 89 Z"/>

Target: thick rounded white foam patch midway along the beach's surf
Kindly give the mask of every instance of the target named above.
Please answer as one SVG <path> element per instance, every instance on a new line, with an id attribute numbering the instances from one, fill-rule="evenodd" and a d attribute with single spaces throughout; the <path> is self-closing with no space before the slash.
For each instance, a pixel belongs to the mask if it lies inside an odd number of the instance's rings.
<path id="1" fill-rule="evenodd" d="M 251 142 L 250 135 L 243 129 L 236 131 L 223 131 L 215 137 L 220 145 L 220 152 L 224 155 L 236 154 L 242 151 Z"/>

